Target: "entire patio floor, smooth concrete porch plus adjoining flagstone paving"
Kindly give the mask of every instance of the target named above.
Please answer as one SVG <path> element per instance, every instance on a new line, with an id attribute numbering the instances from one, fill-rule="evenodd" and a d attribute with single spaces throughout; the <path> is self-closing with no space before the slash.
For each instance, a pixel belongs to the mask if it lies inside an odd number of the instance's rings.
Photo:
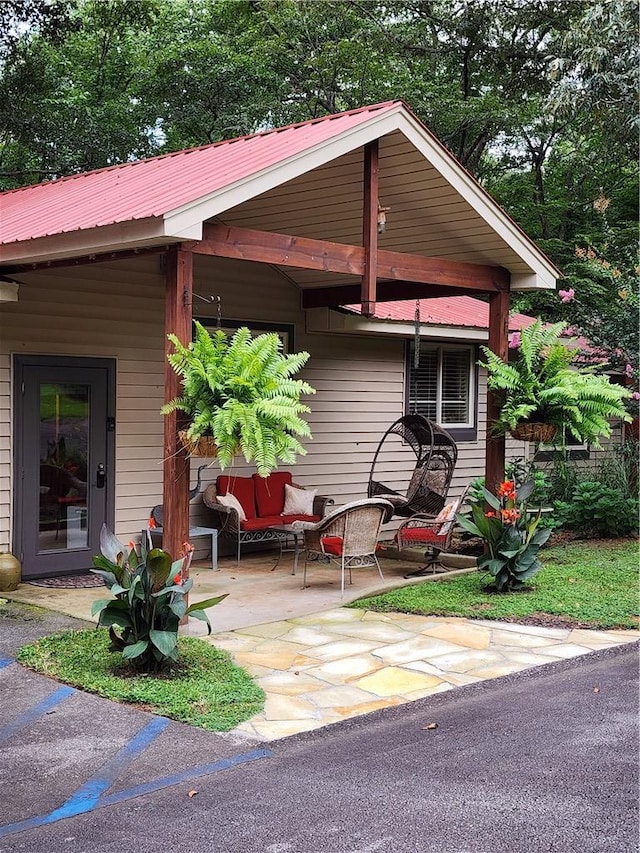
<path id="1" fill-rule="evenodd" d="M 210 611 L 214 633 L 203 639 L 229 651 L 265 691 L 264 711 L 237 729 L 259 740 L 640 639 L 639 631 L 536 628 L 344 606 L 381 588 L 446 577 L 407 581 L 410 565 L 397 560 L 384 561 L 384 584 L 375 569 L 359 570 L 342 600 L 335 570 L 314 569 L 302 590 L 301 578 L 291 574 L 290 555 L 273 568 L 269 555 L 243 558 L 241 567 L 223 560 L 219 572 L 192 567 L 192 600 L 230 593 Z M 105 590 L 23 583 L 4 595 L 91 620 L 91 604 Z M 192 619 L 185 633 L 201 636 L 203 630 Z"/>

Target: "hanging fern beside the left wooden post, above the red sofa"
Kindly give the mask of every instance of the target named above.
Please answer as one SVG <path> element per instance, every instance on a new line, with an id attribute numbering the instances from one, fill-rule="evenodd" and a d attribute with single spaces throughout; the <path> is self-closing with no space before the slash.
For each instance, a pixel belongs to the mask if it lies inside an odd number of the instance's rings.
<path id="1" fill-rule="evenodd" d="M 252 337 L 240 328 L 231 339 L 221 331 L 210 333 L 195 321 L 194 339 L 184 346 L 169 335 L 175 352 L 167 358 L 181 377 L 182 394 L 166 403 L 162 413 L 184 412 L 189 420 L 181 440 L 192 455 L 217 456 L 224 470 L 242 452 L 264 477 L 278 460 L 295 462 L 306 450 L 298 436 L 310 438 L 301 417 L 309 408 L 302 394 L 314 389 L 292 379 L 309 353 L 285 355 L 274 332 Z M 209 440 L 202 449 L 202 439 Z"/>

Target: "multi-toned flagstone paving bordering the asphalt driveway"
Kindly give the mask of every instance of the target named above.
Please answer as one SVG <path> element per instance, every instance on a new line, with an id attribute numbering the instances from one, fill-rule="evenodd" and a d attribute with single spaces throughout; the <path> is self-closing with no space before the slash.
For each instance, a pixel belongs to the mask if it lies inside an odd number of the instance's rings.
<path id="1" fill-rule="evenodd" d="M 268 741 L 639 638 L 336 608 L 209 642 L 265 691 L 264 710 L 236 731 Z"/>

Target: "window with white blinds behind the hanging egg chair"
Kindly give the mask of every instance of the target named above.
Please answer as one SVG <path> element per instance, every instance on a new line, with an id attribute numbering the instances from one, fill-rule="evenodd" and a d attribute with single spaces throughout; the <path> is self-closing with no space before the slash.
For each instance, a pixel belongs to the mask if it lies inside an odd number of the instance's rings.
<path id="1" fill-rule="evenodd" d="M 409 411 L 444 427 L 474 424 L 474 351 L 472 347 L 420 346 L 415 366 L 414 345 L 408 353 Z"/>

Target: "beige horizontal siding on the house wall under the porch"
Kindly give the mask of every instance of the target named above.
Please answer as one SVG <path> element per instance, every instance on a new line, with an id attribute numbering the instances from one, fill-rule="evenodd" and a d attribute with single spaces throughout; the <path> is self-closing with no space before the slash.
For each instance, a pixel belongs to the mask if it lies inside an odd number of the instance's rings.
<path id="1" fill-rule="evenodd" d="M 11 379 L 13 353 L 109 357 L 117 364 L 116 532 L 125 539 L 146 525 L 162 499 L 164 287 L 159 256 L 24 275 L 17 303 L 0 306 L 0 551 L 11 547 Z M 404 342 L 389 337 L 307 334 L 300 294 L 277 271 L 255 264 L 199 258 L 194 290 L 220 295 L 223 318 L 291 324 L 294 348 L 311 358 L 304 377 L 313 440 L 295 467 L 302 485 L 337 503 L 366 494 L 369 469 L 386 428 L 403 413 Z M 212 305 L 194 299 L 196 316 Z M 459 446 L 453 493 L 484 470 L 486 393 L 480 382 L 478 440 Z M 201 460 L 193 460 L 192 471 Z M 384 460 L 392 486 L 403 488 L 413 455 L 398 447 Z M 251 473 L 241 458 L 234 470 Z M 205 482 L 219 473 L 216 463 Z M 206 510 L 194 501 L 194 520 Z"/>

